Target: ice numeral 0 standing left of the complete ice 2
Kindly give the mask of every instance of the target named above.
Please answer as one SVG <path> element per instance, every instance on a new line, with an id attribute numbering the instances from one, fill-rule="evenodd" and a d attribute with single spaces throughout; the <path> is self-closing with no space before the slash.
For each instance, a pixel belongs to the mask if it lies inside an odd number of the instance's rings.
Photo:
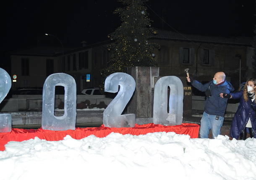
<path id="1" fill-rule="evenodd" d="M 64 115 L 54 115 L 55 86 L 64 86 Z M 44 82 L 42 129 L 65 131 L 76 125 L 76 81 L 65 73 L 51 74 Z"/>

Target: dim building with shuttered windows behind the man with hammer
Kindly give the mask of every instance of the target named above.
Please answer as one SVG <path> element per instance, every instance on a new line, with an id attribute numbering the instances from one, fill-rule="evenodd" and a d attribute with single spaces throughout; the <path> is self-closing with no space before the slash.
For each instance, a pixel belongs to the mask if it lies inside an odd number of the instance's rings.
<path id="1" fill-rule="evenodd" d="M 238 88 L 240 82 L 254 75 L 252 68 L 253 38 L 225 38 L 184 35 L 159 31 L 153 41 L 160 44 L 156 51 L 160 76 L 186 76 L 185 68 L 201 82 L 208 82 L 217 71 Z"/>

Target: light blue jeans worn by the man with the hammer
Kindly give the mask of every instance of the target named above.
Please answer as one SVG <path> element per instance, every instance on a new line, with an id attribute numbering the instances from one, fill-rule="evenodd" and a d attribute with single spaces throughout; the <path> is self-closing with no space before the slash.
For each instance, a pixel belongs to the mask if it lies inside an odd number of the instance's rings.
<path id="1" fill-rule="evenodd" d="M 215 115 L 210 115 L 204 112 L 200 125 L 200 137 L 208 138 L 209 130 L 212 129 L 212 138 L 217 137 L 220 134 L 220 128 L 222 127 L 224 117 L 219 117 L 219 120 L 215 119 Z"/>

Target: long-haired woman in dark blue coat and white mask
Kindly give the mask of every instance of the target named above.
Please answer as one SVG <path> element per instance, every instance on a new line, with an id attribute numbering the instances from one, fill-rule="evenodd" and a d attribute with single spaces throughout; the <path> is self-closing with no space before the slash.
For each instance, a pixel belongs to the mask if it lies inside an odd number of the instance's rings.
<path id="1" fill-rule="evenodd" d="M 232 120 L 230 136 L 232 138 L 245 140 L 247 136 L 246 128 L 249 128 L 250 137 L 256 138 L 256 104 L 255 104 L 256 79 L 251 78 L 246 81 L 243 90 L 219 95 L 223 98 L 240 98 L 240 104 Z"/>

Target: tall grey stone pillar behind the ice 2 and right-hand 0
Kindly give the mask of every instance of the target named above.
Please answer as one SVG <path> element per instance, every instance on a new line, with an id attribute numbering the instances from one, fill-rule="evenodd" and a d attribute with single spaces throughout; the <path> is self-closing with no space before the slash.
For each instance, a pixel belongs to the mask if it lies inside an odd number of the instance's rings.
<path id="1" fill-rule="evenodd" d="M 131 67 L 128 68 L 135 82 L 136 89 L 128 103 L 127 114 L 136 114 L 136 118 L 153 117 L 154 78 L 159 76 L 159 67 Z"/>

